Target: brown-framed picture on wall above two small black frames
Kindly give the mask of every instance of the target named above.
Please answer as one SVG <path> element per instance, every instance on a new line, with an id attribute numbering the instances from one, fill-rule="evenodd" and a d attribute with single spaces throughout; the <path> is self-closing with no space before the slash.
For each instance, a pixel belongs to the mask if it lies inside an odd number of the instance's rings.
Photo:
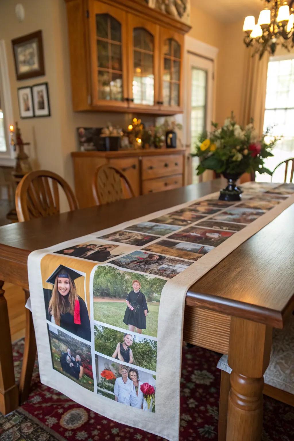
<path id="1" fill-rule="evenodd" d="M 18 80 L 45 75 L 42 31 L 11 40 Z"/>

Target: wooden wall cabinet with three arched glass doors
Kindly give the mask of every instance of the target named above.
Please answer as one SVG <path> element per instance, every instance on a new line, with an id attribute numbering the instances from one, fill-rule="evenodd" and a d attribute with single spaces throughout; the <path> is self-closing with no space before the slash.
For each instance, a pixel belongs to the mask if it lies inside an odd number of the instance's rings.
<path id="1" fill-rule="evenodd" d="M 65 0 L 75 111 L 182 112 L 185 23 L 141 0 Z"/>

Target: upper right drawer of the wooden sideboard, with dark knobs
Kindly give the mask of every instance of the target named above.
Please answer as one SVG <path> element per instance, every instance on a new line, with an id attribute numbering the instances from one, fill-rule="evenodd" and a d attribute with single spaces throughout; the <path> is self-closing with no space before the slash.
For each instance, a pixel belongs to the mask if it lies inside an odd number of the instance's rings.
<path id="1" fill-rule="evenodd" d="M 183 157 L 180 155 L 142 158 L 142 179 L 160 178 L 182 173 Z"/>

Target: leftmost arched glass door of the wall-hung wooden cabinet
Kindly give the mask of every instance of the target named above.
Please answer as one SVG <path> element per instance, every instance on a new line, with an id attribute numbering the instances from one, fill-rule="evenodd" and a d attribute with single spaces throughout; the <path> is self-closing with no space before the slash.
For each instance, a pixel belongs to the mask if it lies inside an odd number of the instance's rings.
<path id="1" fill-rule="evenodd" d="M 91 29 L 93 104 L 127 106 L 125 20 L 115 7 L 94 4 Z"/>

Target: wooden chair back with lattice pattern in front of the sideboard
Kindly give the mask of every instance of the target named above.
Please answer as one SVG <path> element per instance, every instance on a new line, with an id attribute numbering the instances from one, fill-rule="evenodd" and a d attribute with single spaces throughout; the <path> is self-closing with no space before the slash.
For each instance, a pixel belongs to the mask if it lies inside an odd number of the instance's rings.
<path id="1" fill-rule="evenodd" d="M 118 168 L 100 165 L 93 176 L 93 197 L 97 205 L 109 204 L 125 198 L 134 198 L 127 176 Z"/>

